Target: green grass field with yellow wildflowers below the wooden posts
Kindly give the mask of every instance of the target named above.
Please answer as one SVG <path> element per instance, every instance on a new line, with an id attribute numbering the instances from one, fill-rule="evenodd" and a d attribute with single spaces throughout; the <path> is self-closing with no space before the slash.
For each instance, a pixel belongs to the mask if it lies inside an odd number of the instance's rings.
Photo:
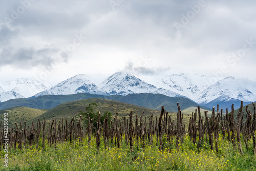
<path id="1" fill-rule="evenodd" d="M 220 136 L 221 137 L 221 136 Z M 96 151 L 96 140 L 92 139 L 90 148 L 87 138 L 82 144 L 57 143 L 56 145 L 46 145 L 42 151 L 39 144 L 37 150 L 35 146 L 27 147 L 20 151 L 10 151 L 8 156 L 9 166 L 0 163 L 1 170 L 255 170 L 256 157 L 252 154 L 252 142 L 249 142 L 249 151 L 245 150 L 241 155 L 237 150 L 233 150 L 232 144 L 219 139 L 219 154 L 210 151 L 208 144 L 204 141 L 202 148 L 198 151 L 188 136 L 185 136 L 184 143 L 179 148 L 175 148 L 175 139 L 172 143 L 163 137 L 164 148 L 160 152 L 156 145 L 146 145 L 144 149 L 141 144 L 138 146 L 134 141 L 134 152 L 130 151 L 130 146 L 124 143 L 122 137 L 120 148 L 110 145 L 106 149 L 101 139 L 99 152 Z M 41 143 L 41 140 L 40 140 Z M 1 158 L 4 152 L 0 153 Z"/>

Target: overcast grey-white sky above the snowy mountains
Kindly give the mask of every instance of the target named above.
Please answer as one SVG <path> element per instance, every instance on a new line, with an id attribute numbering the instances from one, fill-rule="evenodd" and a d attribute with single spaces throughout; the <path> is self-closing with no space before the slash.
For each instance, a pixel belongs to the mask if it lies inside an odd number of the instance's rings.
<path id="1" fill-rule="evenodd" d="M 120 70 L 256 80 L 255 1 L 0 2 L 0 81 Z"/>

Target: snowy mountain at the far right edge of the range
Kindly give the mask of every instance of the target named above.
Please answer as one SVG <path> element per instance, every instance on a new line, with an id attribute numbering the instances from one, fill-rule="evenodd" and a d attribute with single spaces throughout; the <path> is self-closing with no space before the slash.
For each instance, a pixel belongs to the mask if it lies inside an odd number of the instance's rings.
<path id="1" fill-rule="evenodd" d="M 207 104 L 213 100 L 231 99 L 245 102 L 256 101 L 256 82 L 243 78 L 226 77 L 204 90 L 195 100 Z"/>

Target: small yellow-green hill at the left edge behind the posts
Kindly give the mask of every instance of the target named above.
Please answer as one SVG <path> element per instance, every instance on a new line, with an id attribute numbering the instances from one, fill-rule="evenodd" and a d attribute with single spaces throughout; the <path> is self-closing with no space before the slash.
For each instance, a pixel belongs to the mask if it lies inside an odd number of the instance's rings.
<path id="1" fill-rule="evenodd" d="M 19 123 L 24 121 L 31 120 L 33 118 L 36 118 L 40 116 L 43 113 L 46 113 L 47 110 L 39 110 L 39 109 L 33 109 L 23 106 L 17 106 L 14 108 L 8 108 L 5 110 L 0 111 L 0 121 L 4 120 L 4 114 L 8 113 L 8 121 L 9 123 Z"/>

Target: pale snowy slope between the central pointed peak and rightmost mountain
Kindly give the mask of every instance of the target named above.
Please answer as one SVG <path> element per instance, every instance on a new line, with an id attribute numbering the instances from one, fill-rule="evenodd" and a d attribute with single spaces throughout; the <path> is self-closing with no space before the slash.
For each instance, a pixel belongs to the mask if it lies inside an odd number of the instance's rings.
<path id="1" fill-rule="evenodd" d="M 192 100 L 195 100 L 202 91 L 210 86 L 209 82 L 216 82 L 212 77 L 197 74 L 142 76 L 141 78 L 151 84 L 154 84 L 157 88 L 181 94 Z"/>

